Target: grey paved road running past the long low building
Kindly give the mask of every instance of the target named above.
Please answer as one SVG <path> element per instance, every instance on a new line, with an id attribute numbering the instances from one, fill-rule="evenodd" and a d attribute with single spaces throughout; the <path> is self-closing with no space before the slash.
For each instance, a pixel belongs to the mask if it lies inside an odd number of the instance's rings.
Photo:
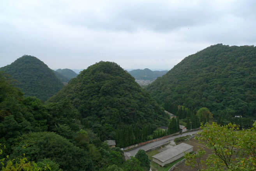
<path id="1" fill-rule="evenodd" d="M 169 140 L 173 140 L 173 139 L 175 139 L 175 138 L 187 136 L 187 135 L 190 135 L 190 134 L 196 134 L 198 131 L 199 131 L 199 130 L 192 131 L 192 132 L 187 132 L 187 133 L 183 133 L 182 135 L 181 135 L 181 134 L 178 134 L 178 135 L 176 135 L 176 136 L 172 136 L 172 137 L 169 137 L 169 138 L 166 138 L 166 139 L 161 139 L 161 140 L 159 140 L 159 141 L 155 141 L 155 142 L 152 142 L 152 143 L 148 143 L 148 144 L 139 146 L 138 148 L 135 148 L 135 149 L 133 149 L 133 150 L 127 151 L 126 153 L 130 153 L 132 156 L 135 157 L 135 155 L 136 155 L 136 153 L 139 151 L 139 149 L 148 150 L 148 149 L 153 148 L 153 147 L 155 147 L 155 146 L 158 146 L 158 145 L 167 143 Z"/>

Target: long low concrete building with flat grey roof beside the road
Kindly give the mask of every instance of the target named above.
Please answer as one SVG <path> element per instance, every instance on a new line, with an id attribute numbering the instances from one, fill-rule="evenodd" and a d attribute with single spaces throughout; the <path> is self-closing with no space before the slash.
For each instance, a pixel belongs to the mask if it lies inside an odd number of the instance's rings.
<path id="1" fill-rule="evenodd" d="M 180 157 L 183 157 L 184 152 L 188 153 L 192 151 L 193 146 L 181 143 L 177 146 L 169 148 L 168 150 L 165 150 L 164 152 L 153 155 L 152 157 L 154 162 L 158 163 L 163 167 L 164 165 L 180 159 Z"/>

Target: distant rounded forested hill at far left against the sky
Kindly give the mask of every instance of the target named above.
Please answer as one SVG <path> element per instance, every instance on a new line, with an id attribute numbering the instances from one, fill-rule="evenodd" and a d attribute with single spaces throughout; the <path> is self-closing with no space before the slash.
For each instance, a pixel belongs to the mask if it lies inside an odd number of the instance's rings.
<path id="1" fill-rule="evenodd" d="M 64 86 L 53 71 L 34 56 L 24 55 L 11 65 L 0 68 L 0 71 L 20 82 L 17 87 L 21 88 L 25 97 L 35 96 L 45 101 Z"/>

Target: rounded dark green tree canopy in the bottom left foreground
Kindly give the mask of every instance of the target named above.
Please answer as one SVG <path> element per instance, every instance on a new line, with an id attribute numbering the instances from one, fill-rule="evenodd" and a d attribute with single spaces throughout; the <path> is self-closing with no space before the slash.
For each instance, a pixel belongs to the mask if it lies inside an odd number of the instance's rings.
<path id="1" fill-rule="evenodd" d="M 45 158 L 60 165 L 63 170 L 88 170 L 93 171 L 94 166 L 87 152 L 74 146 L 67 139 L 53 132 L 30 132 L 18 138 L 11 156 L 25 153 L 32 161 Z M 21 146 L 28 144 L 22 152 Z"/>

